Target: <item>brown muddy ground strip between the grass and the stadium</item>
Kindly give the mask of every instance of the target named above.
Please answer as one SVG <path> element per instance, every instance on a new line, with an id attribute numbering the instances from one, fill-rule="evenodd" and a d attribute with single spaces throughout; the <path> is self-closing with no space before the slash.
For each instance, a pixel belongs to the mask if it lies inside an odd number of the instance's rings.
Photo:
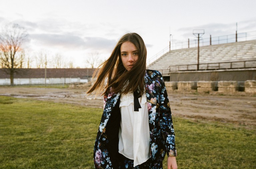
<path id="1" fill-rule="evenodd" d="M 102 97 L 88 96 L 86 91 L 86 88 L 0 87 L 0 95 L 103 108 Z M 256 95 L 169 91 L 168 96 L 173 117 L 256 128 Z"/>

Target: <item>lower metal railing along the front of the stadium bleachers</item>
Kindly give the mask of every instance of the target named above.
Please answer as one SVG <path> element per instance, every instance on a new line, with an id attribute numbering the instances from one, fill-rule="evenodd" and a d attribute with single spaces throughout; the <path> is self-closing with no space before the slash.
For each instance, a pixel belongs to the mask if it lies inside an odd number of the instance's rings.
<path id="1" fill-rule="evenodd" d="M 256 68 L 256 60 L 218 62 L 218 63 L 200 63 L 199 70 L 218 70 L 218 69 L 240 69 L 240 68 Z M 177 71 L 197 71 L 197 64 L 184 64 L 169 66 L 169 72 Z M 164 72 L 166 72 L 166 70 Z"/>

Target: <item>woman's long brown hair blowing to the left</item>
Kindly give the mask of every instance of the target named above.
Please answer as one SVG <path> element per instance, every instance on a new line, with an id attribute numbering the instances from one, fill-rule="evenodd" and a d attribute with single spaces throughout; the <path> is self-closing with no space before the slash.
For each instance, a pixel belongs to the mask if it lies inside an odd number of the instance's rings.
<path id="1" fill-rule="evenodd" d="M 132 42 L 138 49 L 138 60 L 129 71 L 125 69 L 121 60 L 120 48 L 124 42 Z M 134 92 L 139 87 L 141 89 L 140 94 L 142 95 L 145 88 L 146 59 L 147 49 L 143 39 L 136 33 L 125 34 L 117 42 L 109 58 L 94 71 L 93 79 L 97 75 L 97 80 L 87 93 L 91 94 L 93 91 L 96 91 L 96 94 L 101 93 L 102 95 L 108 92 L 119 93 L 129 80 L 127 87 L 122 93 Z M 106 78 L 107 85 L 104 84 Z"/>

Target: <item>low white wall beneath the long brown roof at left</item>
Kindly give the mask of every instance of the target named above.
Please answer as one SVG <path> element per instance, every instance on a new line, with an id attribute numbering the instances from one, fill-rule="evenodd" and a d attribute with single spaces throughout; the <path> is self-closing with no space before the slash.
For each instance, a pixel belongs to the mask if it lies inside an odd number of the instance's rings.
<path id="1" fill-rule="evenodd" d="M 14 85 L 45 84 L 44 78 L 15 78 Z M 80 78 L 46 78 L 46 84 L 69 84 L 75 82 L 87 83 L 88 79 Z M 0 85 L 10 85 L 10 79 L 0 79 Z"/>

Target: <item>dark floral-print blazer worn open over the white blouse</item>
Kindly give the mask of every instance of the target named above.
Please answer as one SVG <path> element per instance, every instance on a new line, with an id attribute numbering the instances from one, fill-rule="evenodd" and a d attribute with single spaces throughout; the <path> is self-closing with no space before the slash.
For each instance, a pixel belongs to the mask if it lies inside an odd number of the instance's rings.
<path id="1" fill-rule="evenodd" d="M 171 109 L 163 77 L 159 71 L 146 70 L 144 76 L 148 104 L 148 120 L 150 129 L 150 158 L 148 168 L 162 168 L 162 161 L 167 152 L 168 156 L 176 156 L 175 134 L 172 123 Z M 120 93 L 109 92 L 104 96 L 104 110 L 94 145 L 95 168 L 112 169 L 111 157 L 106 148 L 107 122 L 111 116 Z M 115 168 L 114 168 L 115 169 Z"/>

